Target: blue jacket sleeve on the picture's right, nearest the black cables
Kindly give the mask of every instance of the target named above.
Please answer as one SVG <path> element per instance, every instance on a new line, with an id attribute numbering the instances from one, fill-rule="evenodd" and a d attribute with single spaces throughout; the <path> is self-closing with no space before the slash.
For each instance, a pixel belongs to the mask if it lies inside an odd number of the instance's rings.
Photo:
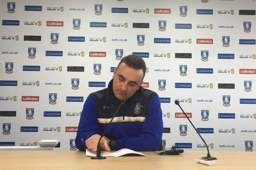
<path id="1" fill-rule="evenodd" d="M 147 116 L 138 137 L 116 140 L 116 150 L 128 148 L 140 151 L 158 150 L 163 134 L 162 109 L 158 95 L 148 102 Z"/>

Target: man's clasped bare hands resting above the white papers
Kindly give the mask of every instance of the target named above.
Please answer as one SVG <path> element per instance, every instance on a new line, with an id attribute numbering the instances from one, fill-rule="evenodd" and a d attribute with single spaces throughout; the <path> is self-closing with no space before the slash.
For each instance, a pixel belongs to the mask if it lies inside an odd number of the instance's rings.
<path id="1" fill-rule="evenodd" d="M 100 139 L 100 135 L 99 134 L 94 134 L 91 137 L 89 137 L 86 141 L 85 141 L 85 145 L 88 149 L 96 152 L 97 151 L 97 145 Z M 110 147 L 108 146 L 109 143 L 109 139 L 107 137 L 102 137 L 100 139 L 100 149 L 103 150 L 107 150 L 110 151 Z"/>

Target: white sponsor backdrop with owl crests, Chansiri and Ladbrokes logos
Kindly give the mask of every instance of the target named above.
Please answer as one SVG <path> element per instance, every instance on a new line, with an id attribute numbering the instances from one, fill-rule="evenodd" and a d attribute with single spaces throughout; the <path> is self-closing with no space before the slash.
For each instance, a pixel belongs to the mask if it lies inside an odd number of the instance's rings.
<path id="1" fill-rule="evenodd" d="M 76 150 L 83 104 L 122 57 L 143 57 L 158 93 L 163 144 L 252 151 L 256 141 L 254 0 L 0 2 L 0 145 L 58 139 Z"/>

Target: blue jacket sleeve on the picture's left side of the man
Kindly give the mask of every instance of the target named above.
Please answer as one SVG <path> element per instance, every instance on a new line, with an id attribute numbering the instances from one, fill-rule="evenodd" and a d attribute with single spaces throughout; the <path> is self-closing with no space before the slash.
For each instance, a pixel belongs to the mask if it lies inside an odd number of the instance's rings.
<path id="1" fill-rule="evenodd" d="M 96 110 L 92 96 L 88 96 L 84 103 L 84 108 L 78 124 L 76 133 L 76 147 L 79 150 L 85 150 L 85 141 L 93 134 L 101 134 L 98 119 L 96 117 Z"/>

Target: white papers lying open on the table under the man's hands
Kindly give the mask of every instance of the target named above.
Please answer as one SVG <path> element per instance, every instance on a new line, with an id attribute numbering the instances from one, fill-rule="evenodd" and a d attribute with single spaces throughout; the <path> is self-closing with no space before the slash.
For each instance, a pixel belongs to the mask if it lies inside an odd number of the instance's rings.
<path id="1" fill-rule="evenodd" d="M 138 155 L 146 156 L 141 152 L 136 152 L 134 150 L 126 149 L 126 148 L 120 149 L 116 152 L 101 152 L 100 153 L 101 156 L 114 156 L 114 157 L 123 156 L 123 155 L 126 155 L 126 154 L 138 154 Z M 96 152 L 93 152 L 92 150 L 86 149 L 86 156 L 96 156 Z"/>

